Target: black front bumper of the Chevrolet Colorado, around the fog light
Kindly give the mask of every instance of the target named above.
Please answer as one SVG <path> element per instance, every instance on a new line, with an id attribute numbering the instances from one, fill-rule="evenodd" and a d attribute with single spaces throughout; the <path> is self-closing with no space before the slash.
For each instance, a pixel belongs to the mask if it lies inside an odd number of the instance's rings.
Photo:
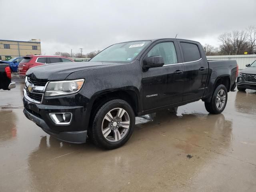
<path id="1" fill-rule="evenodd" d="M 88 102 L 88 100 L 82 98 L 80 94 L 44 98 L 42 104 L 36 104 L 24 97 L 23 112 L 29 120 L 59 140 L 85 143 L 90 114 L 87 114 L 89 110 L 83 102 Z M 59 123 L 56 118 L 52 118 L 52 114 L 72 115 L 69 122 Z"/>

